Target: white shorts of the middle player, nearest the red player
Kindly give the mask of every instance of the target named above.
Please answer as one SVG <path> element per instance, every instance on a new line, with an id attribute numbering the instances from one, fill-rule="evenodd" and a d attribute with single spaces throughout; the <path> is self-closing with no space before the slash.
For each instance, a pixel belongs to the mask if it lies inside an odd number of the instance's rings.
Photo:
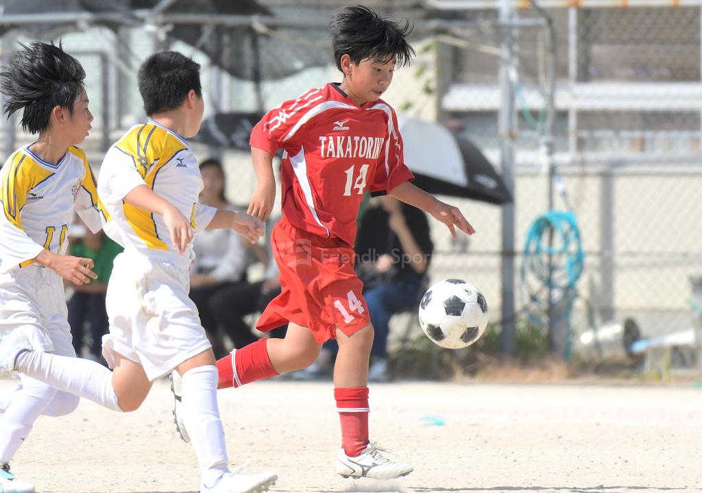
<path id="1" fill-rule="evenodd" d="M 190 289 L 190 261 L 157 260 L 126 249 L 114 259 L 107 284 L 110 334 L 102 356 L 114 367 L 114 353 L 141 364 L 150 381 L 211 348 Z"/>

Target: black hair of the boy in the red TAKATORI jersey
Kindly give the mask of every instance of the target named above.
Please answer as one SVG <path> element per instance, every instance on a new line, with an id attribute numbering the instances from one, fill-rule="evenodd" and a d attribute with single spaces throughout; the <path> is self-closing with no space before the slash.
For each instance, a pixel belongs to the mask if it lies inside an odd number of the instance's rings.
<path id="1" fill-rule="evenodd" d="M 406 37 L 411 31 L 409 20 L 399 25 L 366 6 L 340 8 L 329 22 L 336 67 L 341 70 L 342 55 L 349 55 L 356 65 L 366 59 L 385 63 L 393 57 L 398 67 L 409 65 L 414 50 Z"/>

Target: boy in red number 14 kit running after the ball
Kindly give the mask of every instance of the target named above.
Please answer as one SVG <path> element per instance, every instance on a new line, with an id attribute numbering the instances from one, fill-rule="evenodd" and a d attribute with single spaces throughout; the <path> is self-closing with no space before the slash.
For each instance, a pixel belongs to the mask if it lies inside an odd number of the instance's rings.
<path id="1" fill-rule="evenodd" d="M 305 368 L 322 343 L 338 341 L 334 397 L 343 447 L 336 472 L 345 477 L 397 478 L 409 464 L 386 459 L 368 438 L 368 367 L 373 327 L 362 282 L 353 270 L 356 219 L 364 192 L 390 194 L 430 213 L 455 236 L 475 232 L 456 207 L 409 183 L 392 107 L 380 100 L 396 66 L 413 50 L 401 27 L 364 6 L 342 8 L 331 21 L 340 84 L 307 91 L 268 112 L 251 133 L 258 188 L 249 213 L 265 220 L 275 198 L 272 159 L 284 150 L 283 218 L 272 232 L 282 294 L 257 328 L 289 322 L 284 339 L 260 339 L 218 361 L 218 388 Z M 174 374 L 177 378 L 177 375 Z M 174 390 L 178 395 L 178 384 Z M 176 405 L 178 400 L 176 397 Z M 181 434 L 183 429 L 176 423 Z"/>

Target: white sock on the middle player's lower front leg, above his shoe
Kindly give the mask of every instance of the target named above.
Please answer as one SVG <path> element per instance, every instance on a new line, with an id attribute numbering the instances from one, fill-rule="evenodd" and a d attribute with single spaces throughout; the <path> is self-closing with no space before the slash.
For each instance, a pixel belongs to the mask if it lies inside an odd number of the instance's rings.
<path id="1" fill-rule="evenodd" d="M 207 365 L 183 374 L 183 421 L 200 465 L 202 483 L 216 485 L 227 473 L 227 446 L 217 407 L 217 367 Z"/>

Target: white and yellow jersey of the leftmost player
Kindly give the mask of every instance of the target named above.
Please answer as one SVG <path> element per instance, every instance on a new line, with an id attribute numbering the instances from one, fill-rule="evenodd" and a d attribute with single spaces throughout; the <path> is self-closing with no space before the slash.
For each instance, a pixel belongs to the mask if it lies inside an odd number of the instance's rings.
<path id="1" fill-rule="evenodd" d="M 71 146 L 53 164 L 20 147 L 0 170 L 0 272 L 22 268 L 43 249 L 65 254 L 76 211 L 88 228 L 102 228 L 95 176 L 85 152 Z"/>

